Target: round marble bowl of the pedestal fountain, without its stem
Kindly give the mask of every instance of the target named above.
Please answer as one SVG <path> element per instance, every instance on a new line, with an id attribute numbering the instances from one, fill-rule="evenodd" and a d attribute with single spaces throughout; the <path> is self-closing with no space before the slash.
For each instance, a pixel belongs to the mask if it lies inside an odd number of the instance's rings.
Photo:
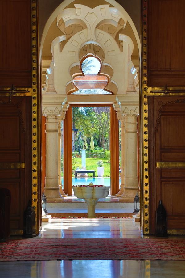
<path id="1" fill-rule="evenodd" d="M 110 186 L 102 187 L 72 187 L 74 195 L 79 199 L 100 199 L 109 195 Z"/>

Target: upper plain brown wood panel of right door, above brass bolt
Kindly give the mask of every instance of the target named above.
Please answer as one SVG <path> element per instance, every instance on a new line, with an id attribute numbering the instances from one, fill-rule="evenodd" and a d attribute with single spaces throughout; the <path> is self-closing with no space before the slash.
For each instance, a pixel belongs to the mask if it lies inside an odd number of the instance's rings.
<path id="1" fill-rule="evenodd" d="M 148 86 L 184 86 L 184 0 L 148 1 Z"/>

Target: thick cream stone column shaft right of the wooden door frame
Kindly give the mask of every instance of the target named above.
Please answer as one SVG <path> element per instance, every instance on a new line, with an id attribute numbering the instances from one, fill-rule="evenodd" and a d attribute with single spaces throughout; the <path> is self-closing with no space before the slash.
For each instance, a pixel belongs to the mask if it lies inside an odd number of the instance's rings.
<path id="1" fill-rule="evenodd" d="M 125 116 L 125 185 L 120 199 L 133 202 L 138 191 L 137 115 Z"/>

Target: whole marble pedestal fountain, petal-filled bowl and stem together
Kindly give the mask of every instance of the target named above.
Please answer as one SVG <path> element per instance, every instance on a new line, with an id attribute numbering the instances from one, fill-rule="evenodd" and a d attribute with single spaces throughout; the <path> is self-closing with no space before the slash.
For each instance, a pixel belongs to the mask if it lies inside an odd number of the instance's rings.
<path id="1" fill-rule="evenodd" d="M 102 187 L 80 187 L 73 186 L 74 195 L 79 199 L 84 199 L 86 204 L 88 205 L 88 218 L 95 218 L 95 207 L 98 199 L 105 198 L 109 195 L 110 186 L 102 186 Z"/>

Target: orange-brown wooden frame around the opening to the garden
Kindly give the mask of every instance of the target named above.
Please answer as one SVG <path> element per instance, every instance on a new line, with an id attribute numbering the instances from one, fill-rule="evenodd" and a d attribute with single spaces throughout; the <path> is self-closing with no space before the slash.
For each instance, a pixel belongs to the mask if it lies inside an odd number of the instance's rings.
<path id="1" fill-rule="evenodd" d="M 72 107 L 110 107 L 111 195 L 119 191 L 119 121 L 112 104 L 70 104 L 64 119 L 64 192 L 72 195 Z M 116 142 L 116 143 L 115 143 Z"/>

